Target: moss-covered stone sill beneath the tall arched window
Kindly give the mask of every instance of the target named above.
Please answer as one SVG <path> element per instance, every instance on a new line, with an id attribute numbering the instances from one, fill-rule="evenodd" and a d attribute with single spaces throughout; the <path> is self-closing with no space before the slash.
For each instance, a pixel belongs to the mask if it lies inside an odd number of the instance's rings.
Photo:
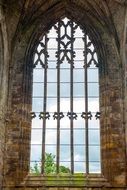
<path id="1" fill-rule="evenodd" d="M 101 174 L 59 174 L 33 175 L 29 174 L 21 186 L 25 187 L 110 187 Z"/>

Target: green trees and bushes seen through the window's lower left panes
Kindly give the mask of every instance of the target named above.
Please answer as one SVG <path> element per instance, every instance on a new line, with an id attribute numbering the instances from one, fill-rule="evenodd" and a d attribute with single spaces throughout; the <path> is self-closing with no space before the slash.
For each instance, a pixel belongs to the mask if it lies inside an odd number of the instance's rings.
<path id="1" fill-rule="evenodd" d="M 55 174 L 56 173 L 56 164 L 55 164 L 55 155 L 52 153 L 45 153 L 45 163 L 44 163 L 45 174 Z M 30 169 L 31 173 L 36 175 L 41 173 L 41 164 L 35 162 L 34 166 Z M 65 166 L 59 167 L 59 173 L 70 173 L 70 169 Z"/>

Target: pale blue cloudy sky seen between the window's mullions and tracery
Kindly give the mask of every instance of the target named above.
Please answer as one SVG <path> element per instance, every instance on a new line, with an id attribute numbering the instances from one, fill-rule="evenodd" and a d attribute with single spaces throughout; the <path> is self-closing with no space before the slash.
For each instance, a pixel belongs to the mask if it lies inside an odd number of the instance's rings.
<path id="1" fill-rule="evenodd" d="M 64 20 L 67 23 L 67 19 Z M 67 34 L 70 35 L 70 27 L 66 28 Z M 61 29 L 61 35 L 65 34 L 65 29 Z M 48 33 L 48 70 L 47 70 L 47 111 L 50 113 L 50 119 L 46 120 L 46 153 L 56 155 L 56 136 L 57 136 L 57 121 L 53 119 L 53 113 L 57 111 L 57 69 L 56 69 L 56 51 L 57 33 L 52 28 Z M 73 72 L 73 106 L 74 112 L 77 114 L 77 120 L 73 121 L 74 131 L 74 170 L 75 172 L 85 173 L 85 120 L 81 117 L 81 113 L 85 112 L 85 87 L 84 87 L 84 42 L 82 40 L 83 33 L 78 27 L 74 37 L 74 72 Z M 77 38 L 80 37 L 80 38 Z M 44 42 L 44 39 L 42 39 Z M 68 38 L 65 37 L 63 42 L 66 44 Z M 90 42 L 87 36 L 87 42 Z M 63 46 L 61 45 L 61 48 Z M 70 46 L 68 47 L 68 49 Z M 93 44 L 89 47 L 90 51 L 94 51 Z M 42 47 L 38 45 L 37 51 L 41 52 Z M 69 55 L 70 56 L 70 55 Z M 91 60 L 90 53 L 87 54 L 87 63 Z M 40 59 L 44 62 L 43 53 Z M 94 53 L 94 59 L 97 61 L 97 55 Z M 39 64 L 38 55 L 35 54 L 34 62 L 38 65 L 33 71 L 33 99 L 32 111 L 36 112 L 36 118 L 32 119 L 32 134 L 31 134 L 31 166 L 34 161 L 39 162 L 41 159 L 42 150 L 42 132 L 43 121 L 39 119 L 39 112 L 43 111 L 43 93 L 44 93 L 44 69 Z M 60 165 L 70 168 L 70 120 L 67 117 L 67 112 L 70 111 L 70 64 L 65 59 L 60 65 L 60 108 L 64 114 L 64 118 L 60 120 Z M 99 111 L 99 82 L 98 69 L 93 61 L 88 68 L 88 111 L 92 113 L 92 119 L 89 120 L 89 170 L 90 173 L 100 173 L 100 124 L 95 118 L 95 113 Z"/>

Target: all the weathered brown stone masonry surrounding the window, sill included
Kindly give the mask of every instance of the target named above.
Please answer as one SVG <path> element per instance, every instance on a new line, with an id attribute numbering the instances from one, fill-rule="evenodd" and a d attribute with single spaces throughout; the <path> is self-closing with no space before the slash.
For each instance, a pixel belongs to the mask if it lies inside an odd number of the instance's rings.
<path id="1" fill-rule="evenodd" d="M 98 49 L 102 175 L 30 176 L 31 56 L 37 40 L 67 16 Z M 0 1 L 0 189 L 127 189 L 126 0 Z"/>

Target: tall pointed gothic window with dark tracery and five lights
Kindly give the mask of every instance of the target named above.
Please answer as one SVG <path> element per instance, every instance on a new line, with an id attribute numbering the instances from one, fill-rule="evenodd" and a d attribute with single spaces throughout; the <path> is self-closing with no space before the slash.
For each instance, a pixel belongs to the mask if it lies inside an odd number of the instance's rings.
<path id="1" fill-rule="evenodd" d="M 96 48 L 67 18 L 35 49 L 31 117 L 31 171 L 101 172 Z"/>

